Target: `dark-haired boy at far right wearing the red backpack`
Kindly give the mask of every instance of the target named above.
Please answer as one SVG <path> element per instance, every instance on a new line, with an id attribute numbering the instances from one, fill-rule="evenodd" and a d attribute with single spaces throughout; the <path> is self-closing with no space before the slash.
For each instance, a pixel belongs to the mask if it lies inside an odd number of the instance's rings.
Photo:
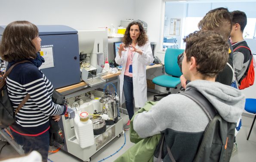
<path id="1" fill-rule="evenodd" d="M 247 16 L 242 11 L 233 11 L 232 14 L 232 31 L 230 33 L 232 40 L 232 47 L 236 49 L 239 46 L 245 46 L 247 48 L 247 42 L 243 38 L 244 28 L 247 24 Z M 247 48 L 237 48 L 234 51 L 233 63 L 234 72 L 237 78 L 238 84 L 241 82 L 241 78 L 247 70 L 250 63 L 250 50 Z"/>

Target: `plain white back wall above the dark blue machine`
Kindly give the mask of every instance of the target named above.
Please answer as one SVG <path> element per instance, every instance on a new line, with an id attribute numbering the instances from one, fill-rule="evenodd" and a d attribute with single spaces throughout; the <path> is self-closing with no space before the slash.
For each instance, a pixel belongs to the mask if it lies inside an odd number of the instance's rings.
<path id="1" fill-rule="evenodd" d="M 0 6 L 0 25 L 27 20 L 95 30 L 134 16 L 134 0 L 0 0 Z"/>

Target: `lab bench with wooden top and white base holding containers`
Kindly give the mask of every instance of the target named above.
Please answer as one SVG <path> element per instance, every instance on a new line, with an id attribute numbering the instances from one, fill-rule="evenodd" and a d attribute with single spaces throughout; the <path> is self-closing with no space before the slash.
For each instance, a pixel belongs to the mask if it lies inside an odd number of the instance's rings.
<path id="1" fill-rule="evenodd" d="M 83 93 L 88 93 L 91 91 L 95 91 L 96 89 L 103 89 L 108 84 L 117 84 L 116 89 L 117 93 L 119 93 L 119 79 L 118 75 L 120 75 L 121 72 L 117 72 L 115 74 L 107 74 L 102 76 L 106 80 L 105 83 L 99 84 L 95 87 L 89 87 L 84 81 L 81 81 L 78 84 L 72 84 L 70 86 L 61 87 L 56 89 L 58 92 L 62 93 L 63 96 L 65 96 L 66 99 L 79 96 Z M 107 87 L 108 89 L 108 87 Z M 102 94 L 101 91 L 98 91 L 96 93 L 96 96 L 99 96 L 99 94 Z M 100 96 L 99 96 L 100 97 Z M 74 127 L 71 128 L 70 120 L 67 120 L 64 115 L 62 115 L 61 120 L 59 120 L 59 126 L 62 129 L 63 137 L 65 144 L 60 145 L 62 150 L 65 150 L 68 153 L 71 153 L 72 155 L 78 157 L 79 159 L 89 162 L 90 157 L 93 156 L 96 152 L 98 152 L 102 147 L 104 147 L 106 144 L 108 144 L 110 141 L 112 141 L 115 137 L 120 137 L 120 135 L 123 133 L 123 118 L 119 117 L 117 120 L 117 123 L 107 126 L 106 132 L 108 132 L 108 137 L 103 137 L 101 135 L 95 135 L 94 136 L 94 145 L 86 148 L 81 148 L 75 133 L 74 133 Z M 7 131 L 7 132 L 6 132 Z M 14 147 L 14 149 L 19 154 L 24 154 L 24 151 L 22 150 L 22 146 L 17 144 L 14 139 L 12 138 L 12 135 L 9 134 L 9 128 L 7 130 L 1 129 L 0 135 L 3 136 L 3 138 L 9 142 L 9 144 Z M 102 138 L 102 141 L 99 140 L 99 138 Z M 57 144 L 58 145 L 58 144 Z"/>

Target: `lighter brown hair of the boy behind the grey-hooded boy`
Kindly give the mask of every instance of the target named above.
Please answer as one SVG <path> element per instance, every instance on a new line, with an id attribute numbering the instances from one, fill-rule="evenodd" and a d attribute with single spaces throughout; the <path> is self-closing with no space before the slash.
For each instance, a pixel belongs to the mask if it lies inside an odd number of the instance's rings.
<path id="1" fill-rule="evenodd" d="M 214 30 L 228 40 L 232 30 L 231 13 L 223 7 L 210 10 L 198 23 L 198 28 L 200 30 Z"/>

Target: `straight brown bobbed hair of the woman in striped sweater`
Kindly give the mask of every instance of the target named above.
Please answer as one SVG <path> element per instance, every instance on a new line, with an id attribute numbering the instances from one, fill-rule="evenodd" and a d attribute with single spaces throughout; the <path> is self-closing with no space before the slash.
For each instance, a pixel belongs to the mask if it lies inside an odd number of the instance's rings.
<path id="1" fill-rule="evenodd" d="M 0 57 L 8 62 L 35 59 L 37 51 L 32 40 L 38 36 L 38 28 L 28 21 L 14 21 L 3 31 Z"/>

